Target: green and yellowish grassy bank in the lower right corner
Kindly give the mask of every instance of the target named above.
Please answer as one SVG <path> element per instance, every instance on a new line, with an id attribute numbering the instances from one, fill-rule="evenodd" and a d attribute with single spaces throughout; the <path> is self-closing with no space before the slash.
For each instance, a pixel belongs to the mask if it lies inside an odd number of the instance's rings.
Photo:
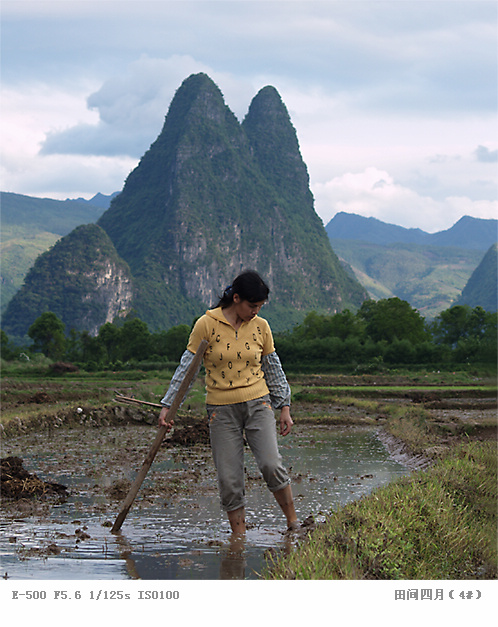
<path id="1" fill-rule="evenodd" d="M 337 512 L 266 579 L 494 579 L 496 443 L 462 444 Z"/>

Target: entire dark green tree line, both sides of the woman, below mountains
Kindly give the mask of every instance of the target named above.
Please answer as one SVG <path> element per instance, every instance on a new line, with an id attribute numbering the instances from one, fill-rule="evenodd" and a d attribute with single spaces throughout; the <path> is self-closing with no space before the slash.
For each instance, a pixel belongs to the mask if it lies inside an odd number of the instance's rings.
<path id="1" fill-rule="evenodd" d="M 194 321 L 195 322 L 195 321 Z M 182 324 L 151 333 L 139 318 L 106 323 L 97 336 L 71 330 L 52 312 L 31 325 L 25 353 L 41 352 L 88 371 L 176 364 L 191 326 Z M 3 359 L 17 359 L 20 348 L 1 332 Z M 456 305 L 427 321 L 399 298 L 365 301 L 356 313 L 310 312 L 291 330 L 275 335 L 284 367 L 293 370 L 340 367 L 368 371 L 379 367 L 494 364 L 497 359 L 497 313 Z"/>

